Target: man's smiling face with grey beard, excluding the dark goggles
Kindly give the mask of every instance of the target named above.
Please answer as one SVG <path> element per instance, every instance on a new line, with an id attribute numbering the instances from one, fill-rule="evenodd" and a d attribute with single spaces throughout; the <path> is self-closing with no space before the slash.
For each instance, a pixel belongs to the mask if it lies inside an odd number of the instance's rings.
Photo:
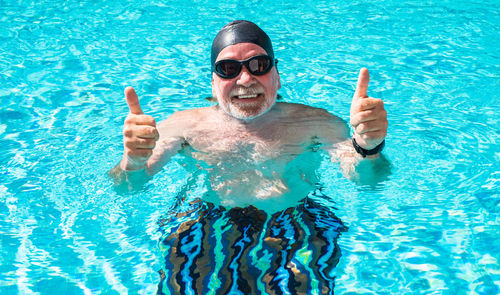
<path id="1" fill-rule="evenodd" d="M 217 57 L 222 59 L 247 60 L 266 51 L 253 43 L 238 43 L 224 48 Z M 280 89 L 280 77 L 276 67 L 262 75 L 254 76 L 243 66 L 238 76 L 223 79 L 212 73 L 212 94 L 220 108 L 228 115 L 242 120 L 254 119 L 271 109 Z"/>

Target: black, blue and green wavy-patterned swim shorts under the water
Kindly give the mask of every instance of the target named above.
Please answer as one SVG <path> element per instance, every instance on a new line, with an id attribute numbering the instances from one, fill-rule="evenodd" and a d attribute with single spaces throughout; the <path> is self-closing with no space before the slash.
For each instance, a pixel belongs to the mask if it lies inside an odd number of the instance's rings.
<path id="1" fill-rule="evenodd" d="M 254 206 L 226 209 L 197 201 L 160 220 L 164 269 L 159 294 L 333 293 L 347 230 L 314 199 L 267 214 Z"/>

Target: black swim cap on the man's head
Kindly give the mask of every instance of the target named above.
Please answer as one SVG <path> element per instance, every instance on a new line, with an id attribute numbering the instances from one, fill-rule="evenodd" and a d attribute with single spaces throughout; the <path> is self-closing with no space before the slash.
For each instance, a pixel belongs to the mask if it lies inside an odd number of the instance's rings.
<path id="1" fill-rule="evenodd" d="M 274 60 L 273 45 L 269 36 L 256 24 L 246 20 L 235 20 L 225 25 L 212 42 L 212 70 L 215 60 L 227 46 L 238 43 L 253 43 L 262 47 Z"/>

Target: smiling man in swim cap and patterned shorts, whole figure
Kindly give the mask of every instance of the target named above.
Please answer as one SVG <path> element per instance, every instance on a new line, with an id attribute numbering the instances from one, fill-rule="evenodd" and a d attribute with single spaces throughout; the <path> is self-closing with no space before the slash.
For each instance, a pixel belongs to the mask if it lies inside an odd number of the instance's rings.
<path id="1" fill-rule="evenodd" d="M 377 161 L 387 119 L 382 101 L 367 96 L 368 71 L 359 74 L 349 139 L 346 124 L 326 110 L 276 102 L 277 62 L 257 25 L 222 28 L 211 63 L 217 104 L 158 125 L 143 114 L 134 89 L 125 89 L 125 148 L 111 175 L 127 184 L 147 180 L 177 153 L 193 174 L 208 174 L 203 202 L 160 220 L 165 270 L 158 294 L 330 294 L 346 227 L 315 201 L 324 197 L 315 190 L 318 151 L 339 160 L 348 177 L 357 163 Z"/>

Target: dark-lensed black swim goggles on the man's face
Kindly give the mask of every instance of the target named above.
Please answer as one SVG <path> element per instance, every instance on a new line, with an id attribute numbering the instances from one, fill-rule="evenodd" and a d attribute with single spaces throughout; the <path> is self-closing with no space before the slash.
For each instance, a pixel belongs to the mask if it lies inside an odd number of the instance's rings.
<path id="1" fill-rule="evenodd" d="M 278 64 L 278 60 L 274 61 Z M 217 76 L 223 79 L 232 79 L 241 72 L 241 67 L 245 65 L 250 74 L 262 76 L 273 68 L 273 59 L 268 55 L 257 55 L 247 60 L 223 59 L 215 63 L 214 71 Z"/>

